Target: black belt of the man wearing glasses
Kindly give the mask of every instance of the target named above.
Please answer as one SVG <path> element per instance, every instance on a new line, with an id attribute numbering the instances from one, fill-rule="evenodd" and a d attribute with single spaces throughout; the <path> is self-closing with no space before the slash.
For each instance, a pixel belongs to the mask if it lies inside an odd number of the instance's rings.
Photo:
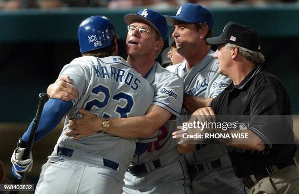
<path id="1" fill-rule="evenodd" d="M 142 164 L 129 164 L 127 171 L 130 172 L 132 175 L 138 177 L 138 176 L 141 176 L 141 175 L 143 175 L 147 172 L 152 172 L 153 170 L 161 167 L 160 159 L 153 160 L 150 163 L 152 163 L 154 169 L 152 169 L 153 167 L 150 167 L 150 164 L 147 163 L 147 164 L 149 164 L 149 167 L 148 167 L 149 170 L 148 170 L 146 164 L 142 163 Z"/>

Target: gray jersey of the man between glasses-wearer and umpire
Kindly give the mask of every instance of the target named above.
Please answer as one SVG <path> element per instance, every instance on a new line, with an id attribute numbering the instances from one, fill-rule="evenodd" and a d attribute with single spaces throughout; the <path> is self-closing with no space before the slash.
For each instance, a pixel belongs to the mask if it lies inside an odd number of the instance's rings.
<path id="1" fill-rule="evenodd" d="M 214 98 L 229 85 L 231 80 L 217 72 L 217 59 L 214 59 L 213 56 L 214 51 L 210 51 L 199 64 L 193 66 L 188 71 L 186 61 L 181 64 L 168 66 L 167 69 L 182 77 L 185 93 L 203 98 Z M 186 114 L 186 111 L 183 109 L 181 113 Z M 187 161 L 201 161 L 226 154 L 224 145 L 208 145 L 206 147 L 215 148 L 204 148 L 200 151 L 196 150 L 193 153 L 186 154 Z"/>

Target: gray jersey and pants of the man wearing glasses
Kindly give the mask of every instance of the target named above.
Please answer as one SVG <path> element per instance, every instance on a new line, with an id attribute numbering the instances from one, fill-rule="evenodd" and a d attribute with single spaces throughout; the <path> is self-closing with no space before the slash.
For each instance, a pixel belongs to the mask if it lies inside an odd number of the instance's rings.
<path id="1" fill-rule="evenodd" d="M 147 80 L 154 89 L 153 104 L 179 116 L 183 102 L 182 79 L 155 62 Z M 140 176 L 126 172 L 124 194 L 191 194 L 186 163 L 171 136 L 175 129 L 176 120 L 168 121 L 158 130 L 157 140 L 150 143 L 149 149 L 134 156 L 132 164 L 145 165 L 147 172 Z M 153 161 L 157 159 L 160 167 L 155 168 Z"/>

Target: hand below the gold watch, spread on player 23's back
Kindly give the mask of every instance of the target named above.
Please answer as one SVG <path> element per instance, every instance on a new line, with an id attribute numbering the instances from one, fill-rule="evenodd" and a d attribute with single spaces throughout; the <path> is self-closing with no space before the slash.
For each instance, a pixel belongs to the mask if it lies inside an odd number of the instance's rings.
<path id="1" fill-rule="evenodd" d="M 80 119 L 70 119 L 64 135 L 69 136 L 72 140 L 77 140 L 102 130 L 103 118 L 97 117 L 97 115 L 85 109 L 80 109 L 79 113 L 83 116 Z"/>

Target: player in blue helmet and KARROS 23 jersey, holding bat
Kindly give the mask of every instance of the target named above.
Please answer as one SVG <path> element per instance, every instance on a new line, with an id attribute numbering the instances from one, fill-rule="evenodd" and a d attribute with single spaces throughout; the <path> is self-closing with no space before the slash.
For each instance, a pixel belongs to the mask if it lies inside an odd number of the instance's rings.
<path id="1" fill-rule="evenodd" d="M 43 109 L 36 141 L 52 130 L 66 114 L 79 118 L 84 108 L 106 117 L 103 131 L 80 140 L 61 134 L 48 161 L 42 167 L 37 194 L 120 194 L 124 173 L 135 151 L 135 139 L 105 133 L 108 118 L 144 115 L 153 99 L 153 89 L 125 60 L 118 56 L 112 22 L 104 16 L 91 16 L 78 27 L 83 57 L 65 65 L 60 76 L 70 76 L 78 91 L 73 101 L 49 100 Z M 141 100 L 142 99 L 142 100 Z M 32 157 L 21 160 L 32 123 L 21 137 L 11 161 L 13 173 L 31 169 Z"/>

